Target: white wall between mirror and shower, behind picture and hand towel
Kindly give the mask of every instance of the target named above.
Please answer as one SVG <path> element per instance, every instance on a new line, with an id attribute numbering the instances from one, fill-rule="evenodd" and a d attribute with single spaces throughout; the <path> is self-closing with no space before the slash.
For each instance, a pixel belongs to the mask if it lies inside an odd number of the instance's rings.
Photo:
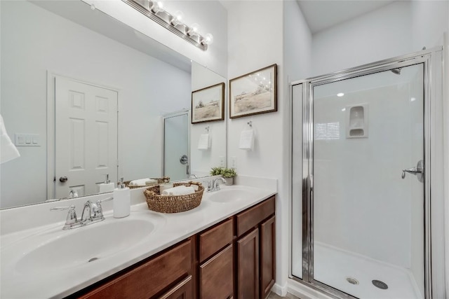
<path id="1" fill-rule="evenodd" d="M 265 22 L 265 20 L 267 20 Z M 278 111 L 229 119 L 228 165 L 236 159 L 239 175 L 278 179 L 276 195 L 276 284 L 285 286 L 288 277 L 288 188 L 284 163 L 288 142 L 286 118 L 288 97 L 283 78 L 283 2 L 232 1 L 228 6 L 229 79 L 278 64 Z M 253 121 L 253 151 L 239 149 L 242 130 Z"/>

